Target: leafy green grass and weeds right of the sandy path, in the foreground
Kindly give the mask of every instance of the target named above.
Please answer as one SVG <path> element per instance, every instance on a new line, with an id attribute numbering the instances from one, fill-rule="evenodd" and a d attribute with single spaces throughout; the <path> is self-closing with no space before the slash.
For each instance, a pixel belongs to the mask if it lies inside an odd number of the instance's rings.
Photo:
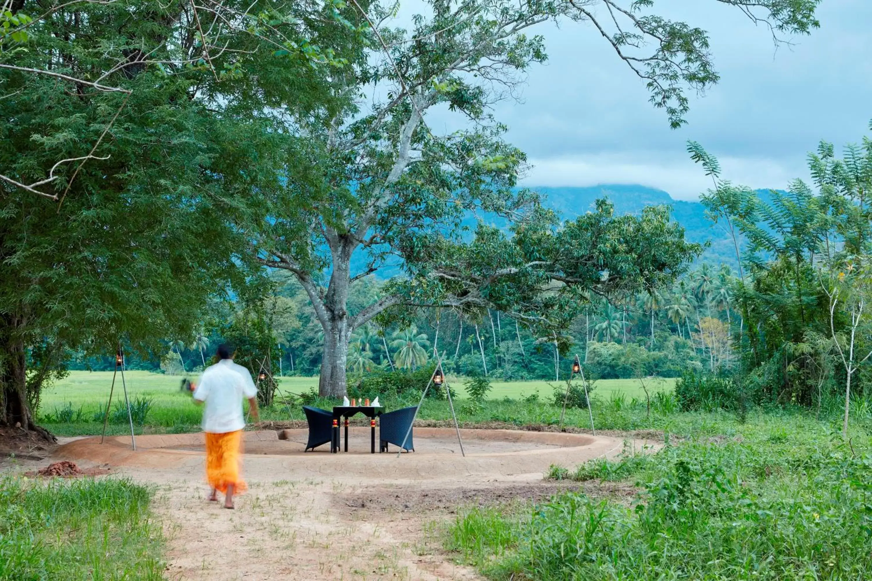
<path id="1" fill-rule="evenodd" d="M 446 547 L 488 578 L 872 578 L 872 418 L 760 409 L 673 413 L 684 439 L 655 456 L 552 467 L 636 484 L 630 503 L 569 492 L 520 510 L 467 510 Z M 596 489 L 594 489 L 596 490 Z"/>

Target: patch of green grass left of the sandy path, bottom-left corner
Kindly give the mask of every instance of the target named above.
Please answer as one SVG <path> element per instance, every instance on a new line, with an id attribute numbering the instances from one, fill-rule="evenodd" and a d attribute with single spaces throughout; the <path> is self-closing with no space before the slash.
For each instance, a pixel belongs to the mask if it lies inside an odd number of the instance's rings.
<path id="1" fill-rule="evenodd" d="M 0 579 L 162 579 L 150 501 L 127 480 L 0 477 Z"/>

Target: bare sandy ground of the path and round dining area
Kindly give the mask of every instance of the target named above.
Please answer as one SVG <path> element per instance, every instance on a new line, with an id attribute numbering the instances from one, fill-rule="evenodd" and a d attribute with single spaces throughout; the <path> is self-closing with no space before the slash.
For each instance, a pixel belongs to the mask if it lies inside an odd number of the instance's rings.
<path id="1" fill-rule="evenodd" d="M 425 436 L 425 429 L 420 431 Z M 249 491 L 237 498 L 235 510 L 206 500 L 202 454 L 178 449 L 195 448 L 201 436 L 151 436 L 140 441 L 137 452 L 130 450 L 129 439 L 107 438 L 104 446 L 78 440 L 61 446 L 55 459 L 75 459 L 83 467 L 109 463 L 117 475 L 158 487 L 155 509 L 167 535 L 169 579 L 463 580 L 478 577 L 454 564 L 441 545 L 441 527 L 459 505 L 548 497 L 566 486 L 542 480 L 550 463 L 574 466 L 617 456 L 625 445 L 616 437 L 578 436 L 586 438 L 581 445 L 567 435 L 480 431 L 469 436 L 530 438 L 538 444 L 528 451 L 466 458 L 438 453 L 397 458 L 362 450 L 303 455 L 280 448 L 299 447 L 293 434 L 279 442 L 276 432 L 249 432 L 249 452 L 260 453 L 245 456 Z M 434 441 L 441 436 L 433 432 Z M 149 449 L 152 445 L 177 449 Z"/>

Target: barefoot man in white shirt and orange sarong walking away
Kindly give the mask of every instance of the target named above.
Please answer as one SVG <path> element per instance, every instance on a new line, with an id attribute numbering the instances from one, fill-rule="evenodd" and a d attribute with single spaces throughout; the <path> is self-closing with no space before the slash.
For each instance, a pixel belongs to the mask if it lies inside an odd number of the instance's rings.
<path id="1" fill-rule="evenodd" d="M 218 347 L 219 361 L 203 371 L 194 388 L 194 402 L 206 403 L 203 431 L 206 432 L 206 477 L 212 487 L 209 500 L 224 497 L 224 508 L 232 509 L 233 495 L 246 489 L 239 474 L 242 449 L 242 398 L 248 398 L 252 418 L 257 422 L 257 388 L 249 370 L 233 362 L 235 348 Z"/>

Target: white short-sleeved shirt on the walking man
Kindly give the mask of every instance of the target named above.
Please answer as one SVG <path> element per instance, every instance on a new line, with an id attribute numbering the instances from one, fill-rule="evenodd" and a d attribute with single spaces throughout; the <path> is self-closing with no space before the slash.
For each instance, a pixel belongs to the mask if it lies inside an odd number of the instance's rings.
<path id="1" fill-rule="evenodd" d="M 251 374 L 231 359 L 222 359 L 203 372 L 194 388 L 194 399 L 206 402 L 203 431 L 212 434 L 235 432 L 245 428 L 242 398 L 257 395 Z"/>

